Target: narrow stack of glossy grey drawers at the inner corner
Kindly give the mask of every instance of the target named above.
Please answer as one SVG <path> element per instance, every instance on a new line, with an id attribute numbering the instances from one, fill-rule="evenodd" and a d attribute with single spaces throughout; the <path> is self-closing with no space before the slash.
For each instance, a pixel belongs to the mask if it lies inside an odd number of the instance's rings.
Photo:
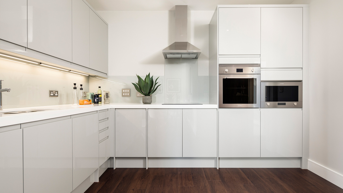
<path id="1" fill-rule="evenodd" d="M 110 157 L 109 110 L 99 111 L 99 167 Z"/>

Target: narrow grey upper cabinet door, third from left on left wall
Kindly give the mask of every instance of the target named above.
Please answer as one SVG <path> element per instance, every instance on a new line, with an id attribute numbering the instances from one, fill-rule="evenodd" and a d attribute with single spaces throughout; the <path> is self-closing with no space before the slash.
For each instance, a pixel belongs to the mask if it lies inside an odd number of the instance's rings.
<path id="1" fill-rule="evenodd" d="M 90 8 L 83 0 L 72 0 L 72 63 L 89 68 L 90 42 L 89 42 L 89 13 Z"/>

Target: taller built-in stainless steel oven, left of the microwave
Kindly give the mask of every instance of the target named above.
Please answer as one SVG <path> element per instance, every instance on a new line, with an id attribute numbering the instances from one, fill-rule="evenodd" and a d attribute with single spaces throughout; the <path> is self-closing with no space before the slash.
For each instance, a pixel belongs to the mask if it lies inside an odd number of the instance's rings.
<path id="1" fill-rule="evenodd" d="M 219 108 L 259 108 L 259 64 L 219 65 Z"/>

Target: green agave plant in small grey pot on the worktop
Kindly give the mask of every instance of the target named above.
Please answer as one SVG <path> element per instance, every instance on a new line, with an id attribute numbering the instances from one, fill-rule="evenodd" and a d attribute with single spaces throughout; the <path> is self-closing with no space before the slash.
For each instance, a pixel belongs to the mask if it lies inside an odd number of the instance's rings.
<path id="1" fill-rule="evenodd" d="M 134 88 L 137 90 L 137 92 L 143 94 L 144 96 L 142 97 L 142 102 L 144 104 L 151 104 L 152 102 L 152 93 L 154 93 L 157 88 L 159 86 L 161 86 L 161 84 L 159 84 L 157 87 L 156 87 L 156 84 L 157 84 L 157 79 L 159 77 L 156 78 L 155 80 L 155 84 L 154 84 L 154 79 L 153 79 L 154 76 L 152 76 L 150 78 L 150 73 L 148 75 L 145 76 L 145 79 L 143 80 L 140 76 L 137 75 L 137 78 L 138 78 L 138 82 L 136 83 L 133 83 L 133 86 Z"/>

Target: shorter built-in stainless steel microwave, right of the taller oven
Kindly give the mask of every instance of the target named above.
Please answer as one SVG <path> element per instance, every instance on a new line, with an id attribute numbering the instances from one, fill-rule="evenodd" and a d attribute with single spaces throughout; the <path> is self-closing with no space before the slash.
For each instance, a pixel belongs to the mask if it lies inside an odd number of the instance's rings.
<path id="1" fill-rule="evenodd" d="M 261 82 L 261 108 L 302 108 L 303 82 Z"/>

